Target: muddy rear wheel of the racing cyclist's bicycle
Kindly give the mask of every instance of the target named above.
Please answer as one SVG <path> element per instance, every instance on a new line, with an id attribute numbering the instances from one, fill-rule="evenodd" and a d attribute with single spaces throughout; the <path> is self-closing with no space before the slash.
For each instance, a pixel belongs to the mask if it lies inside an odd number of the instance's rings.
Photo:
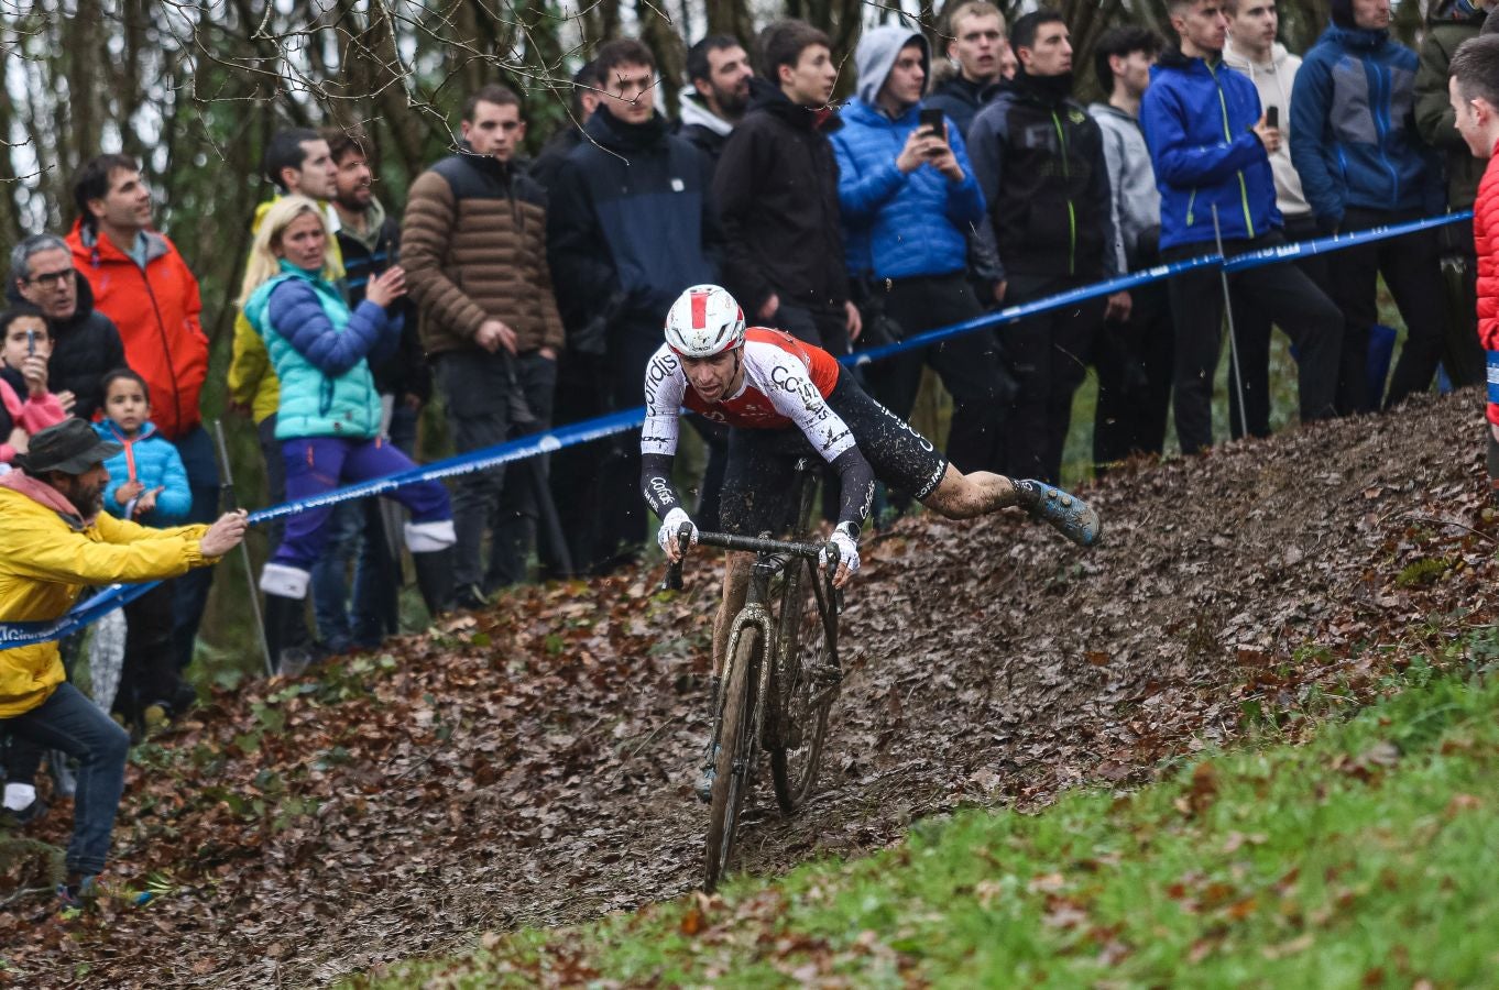
<path id="1" fill-rule="evenodd" d="M 787 581 L 781 599 L 781 655 L 776 696 L 781 698 L 770 782 L 785 815 L 794 815 L 817 782 L 827 737 L 827 711 L 838 696 L 838 610 L 815 566 Z"/>

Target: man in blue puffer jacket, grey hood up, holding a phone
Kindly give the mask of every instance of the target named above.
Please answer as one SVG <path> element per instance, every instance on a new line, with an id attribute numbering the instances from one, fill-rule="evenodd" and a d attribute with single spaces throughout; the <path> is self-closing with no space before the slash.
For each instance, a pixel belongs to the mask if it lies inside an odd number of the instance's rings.
<path id="1" fill-rule="evenodd" d="M 983 193 L 962 135 L 920 126 L 931 52 L 920 31 L 884 25 L 854 52 L 859 96 L 832 135 L 838 157 L 848 271 L 875 286 L 868 304 L 883 307 L 905 335 L 980 316 L 967 280 L 965 237 L 983 220 Z M 962 472 L 1000 470 L 1001 406 L 1009 395 L 994 334 L 979 331 L 869 365 L 869 385 L 886 409 L 910 416 L 922 362 L 952 394 L 947 460 Z"/>

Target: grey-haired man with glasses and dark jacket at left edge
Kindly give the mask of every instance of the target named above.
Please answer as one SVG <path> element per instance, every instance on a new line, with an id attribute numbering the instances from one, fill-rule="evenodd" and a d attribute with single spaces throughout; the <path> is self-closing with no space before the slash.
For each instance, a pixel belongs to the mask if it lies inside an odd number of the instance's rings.
<path id="1" fill-rule="evenodd" d="M 67 241 L 33 234 L 10 250 L 6 298 L 30 303 L 46 318 L 52 353 L 46 373 L 55 395 L 73 397 L 72 413 L 93 419 L 103 406 L 103 373 L 124 365 L 124 344 L 109 318 L 94 309 L 93 289 L 78 277 Z"/>

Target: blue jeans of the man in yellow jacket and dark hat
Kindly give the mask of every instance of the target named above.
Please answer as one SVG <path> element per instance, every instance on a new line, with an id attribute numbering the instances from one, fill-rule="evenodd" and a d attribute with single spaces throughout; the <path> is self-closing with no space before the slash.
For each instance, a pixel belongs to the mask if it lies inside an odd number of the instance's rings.
<path id="1" fill-rule="evenodd" d="M 124 756 L 130 737 L 88 701 L 61 683 L 37 707 L 4 719 L 15 735 L 45 749 L 60 749 L 78 759 L 73 794 L 73 839 L 67 843 L 70 873 L 102 873 L 109 852 L 114 815 L 124 792 Z"/>

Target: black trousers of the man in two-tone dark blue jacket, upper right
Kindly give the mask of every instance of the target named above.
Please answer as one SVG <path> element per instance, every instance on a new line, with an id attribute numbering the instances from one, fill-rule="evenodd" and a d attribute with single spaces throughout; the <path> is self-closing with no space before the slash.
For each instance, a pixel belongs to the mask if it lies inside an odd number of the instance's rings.
<path id="1" fill-rule="evenodd" d="M 1420 220 L 1420 211 L 1384 211 L 1349 207 L 1342 234 L 1367 231 L 1387 223 Z M 1442 359 L 1445 291 L 1433 231 L 1417 231 L 1393 240 L 1372 241 L 1336 252 L 1330 259 L 1333 301 L 1343 310 L 1343 350 L 1339 359 L 1337 410 L 1343 415 L 1370 412 L 1369 331 L 1379 322 L 1375 301 L 1376 277 L 1384 276 L 1406 325 L 1385 407 L 1432 386 Z"/>

